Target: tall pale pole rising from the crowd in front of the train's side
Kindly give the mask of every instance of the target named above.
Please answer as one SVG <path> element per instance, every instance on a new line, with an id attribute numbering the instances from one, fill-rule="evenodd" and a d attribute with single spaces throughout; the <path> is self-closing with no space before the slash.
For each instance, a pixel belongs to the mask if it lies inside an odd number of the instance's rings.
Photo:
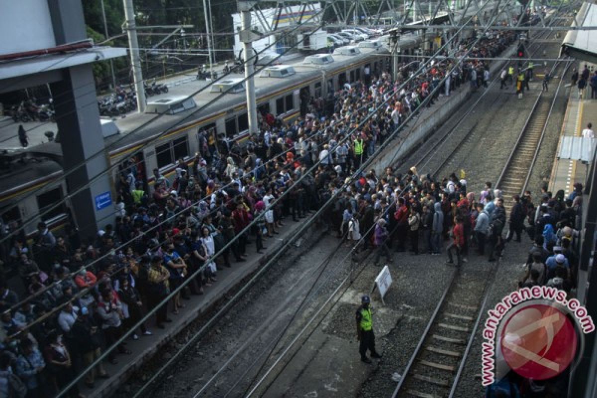
<path id="1" fill-rule="evenodd" d="M 239 32 L 239 39 L 241 39 L 245 58 L 245 91 L 247 92 L 247 116 L 249 122 L 249 134 L 257 133 L 257 106 L 255 103 L 255 82 L 253 78 L 253 62 L 251 55 L 253 55 L 253 48 L 251 42 L 259 39 L 260 36 L 251 32 L 251 7 L 257 1 L 238 0 L 238 11 L 241 12 L 241 32 Z"/>

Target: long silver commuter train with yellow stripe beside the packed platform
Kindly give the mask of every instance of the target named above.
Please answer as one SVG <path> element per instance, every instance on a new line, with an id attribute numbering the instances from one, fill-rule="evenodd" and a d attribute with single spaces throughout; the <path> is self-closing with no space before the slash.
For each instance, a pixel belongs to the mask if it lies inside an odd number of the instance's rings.
<path id="1" fill-rule="evenodd" d="M 441 32 L 431 29 L 403 32 L 396 56 L 401 62 L 413 61 L 421 50 L 438 45 L 439 35 Z M 254 78 L 257 111 L 293 122 L 301 113 L 304 115 L 305 101 L 310 97 L 325 98 L 328 92 L 364 79 L 365 70 L 372 74 L 389 70 L 390 48 L 393 48 L 389 41 L 386 34 L 338 47 L 331 54 L 301 55 L 285 64 L 257 66 Z M 101 118 L 104 131 L 112 131 L 104 134 L 104 156 L 112 166 L 113 198 L 119 174 L 133 164 L 146 187 L 155 183 L 154 169 L 166 178 L 173 178 L 179 159 L 192 166 L 199 152 L 199 132 L 213 134 L 219 144 L 227 146 L 233 141 L 242 146 L 247 140 L 247 106 L 241 75 L 231 73 L 192 96 L 190 93 L 195 90 L 190 88 L 179 94 L 176 91 L 174 88 L 152 97 L 144 113 L 117 120 Z M 177 127 L 171 128 L 173 125 Z M 11 221 L 19 224 L 27 221 L 23 227 L 28 236 L 35 233 L 39 221 L 45 221 L 53 230 L 64 226 L 70 216 L 67 183 L 61 178 L 62 156 L 57 142 L 16 153 L 0 152 L 0 214 L 4 226 Z M 30 195 L 31 192 L 35 195 Z M 38 216 L 64 198 L 64 205 Z"/>

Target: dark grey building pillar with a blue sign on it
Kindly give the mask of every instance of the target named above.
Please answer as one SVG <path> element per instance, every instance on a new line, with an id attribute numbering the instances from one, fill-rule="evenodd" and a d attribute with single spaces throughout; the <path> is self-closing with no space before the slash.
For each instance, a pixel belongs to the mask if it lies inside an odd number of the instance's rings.
<path id="1" fill-rule="evenodd" d="M 56 44 L 87 38 L 81 0 L 48 0 L 48 5 Z M 95 236 L 97 229 L 114 222 L 115 198 L 107 175 L 95 179 L 108 165 L 92 66 L 64 68 L 61 74 L 61 81 L 51 83 L 50 88 L 56 99 L 63 168 L 70 173 L 66 177 L 67 192 L 82 236 Z M 78 190 L 81 192 L 76 193 Z"/>

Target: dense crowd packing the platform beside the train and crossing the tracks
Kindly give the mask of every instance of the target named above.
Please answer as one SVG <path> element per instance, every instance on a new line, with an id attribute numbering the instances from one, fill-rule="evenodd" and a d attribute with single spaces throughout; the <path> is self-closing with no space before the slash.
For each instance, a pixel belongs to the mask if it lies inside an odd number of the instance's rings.
<path id="1" fill-rule="evenodd" d="M 471 55 L 496 56 L 513 37 L 484 38 Z M 457 53 L 468 50 L 463 44 Z M 458 265 L 475 242 L 482 254 L 485 241 L 491 254 L 499 254 L 503 239 L 495 220 L 502 228 L 506 220 L 503 202 L 493 202 L 491 187 L 484 201 L 475 202 L 467 196 L 466 181 L 456 175 L 433 180 L 391 167 L 383 175 L 374 170 L 356 175 L 419 107 L 431 106 L 466 82 L 486 85 L 487 68 L 482 61 L 458 67 L 443 61 L 414 76 L 417 65 L 411 64 L 402 67 L 397 81 L 371 70 L 368 84 L 356 81 L 326 98 L 310 98 L 291 124 L 265 113 L 259 134 L 243 147 L 199 132 L 199 154 L 177 161 L 172 177 L 155 169 L 148 181 L 138 159 L 131 159 L 116 183 L 115 224 L 84 237 L 73 227 L 67 236 L 54 236 L 39 223 L 31 246 L 23 237 L 11 242 L 2 260 L 25 289 L 17 295 L 0 280 L 4 350 L 33 358 L 39 347 L 45 356 L 34 358 L 38 373 L 48 374 L 54 390 L 62 388 L 125 333 L 137 340 L 150 338 L 153 327 L 164 329 L 185 307 L 184 300 L 219 283 L 223 267 L 246 261 L 249 252 L 262 252 L 285 223 L 320 209 L 320 223 L 356 250 L 375 248 L 376 262 L 382 256 L 390 261 L 392 251 L 439 254 L 448 245 Z M 482 221 L 483 215 L 481 223 L 473 223 L 471 214 L 482 212 L 489 221 Z M 450 233 L 454 243 L 448 244 Z M 183 284 L 187 287 L 164 301 Z M 153 310 L 152 322 L 136 326 Z M 40 319 L 47 313 L 57 316 L 54 328 Z M 32 336 L 37 345 L 32 348 L 29 340 L 15 345 L 14 335 Z M 110 363 L 118 361 L 116 353 L 131 350 L 118 344 L 110 350 Z M 39 392 L 38 373 L 21 373 L 27 388 Z M 93 386 L 96 377 L 107 377 L 101 363 L 87 372 L 85 384 Z M 79 393 L 73 388 L 70 394 Z"/>

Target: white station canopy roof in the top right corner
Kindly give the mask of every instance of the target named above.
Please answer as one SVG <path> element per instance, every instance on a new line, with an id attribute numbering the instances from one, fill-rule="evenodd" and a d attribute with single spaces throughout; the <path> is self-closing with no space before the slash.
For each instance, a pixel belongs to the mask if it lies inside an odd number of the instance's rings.
<path id="1" fill-rule="evenodd" d="M 597 27 L 597 4 L 584 2 L 572 26 Z M 562 43 L 562 51 L 571 57 L 597 63 L 597 30 L 570 30 Z"/>

